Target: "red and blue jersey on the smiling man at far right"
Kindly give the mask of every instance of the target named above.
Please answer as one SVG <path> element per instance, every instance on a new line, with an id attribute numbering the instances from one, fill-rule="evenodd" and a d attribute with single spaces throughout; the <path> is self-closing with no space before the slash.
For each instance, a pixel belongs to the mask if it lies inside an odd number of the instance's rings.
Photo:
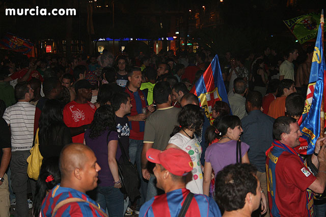
<path id="1" fill-rule="evenodd" d="M 274 141 L 266 151 L 267 193 L 270 216 L 313 216 L 316 177 L 291 147 Z"/>

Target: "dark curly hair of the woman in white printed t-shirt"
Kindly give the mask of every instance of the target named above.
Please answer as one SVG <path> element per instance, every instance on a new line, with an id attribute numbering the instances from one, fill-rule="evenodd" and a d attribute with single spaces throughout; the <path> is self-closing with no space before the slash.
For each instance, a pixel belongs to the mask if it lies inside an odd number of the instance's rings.
<path id="1" fill-rule="evenodd" d="M 171 137 L 178 133 L 182 128 L 195 130 L 195 133 L 201 136 L 201 129 L 204 123 L 204 111 L 197 105 L 185 105 L 178 114 L 178 123 L 181 126 L 175 126 Z"/>

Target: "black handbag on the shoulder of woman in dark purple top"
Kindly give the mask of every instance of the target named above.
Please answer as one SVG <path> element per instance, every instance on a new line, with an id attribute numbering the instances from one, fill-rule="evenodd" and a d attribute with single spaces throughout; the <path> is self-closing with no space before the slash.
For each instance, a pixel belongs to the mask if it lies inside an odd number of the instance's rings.
<path id="1" fill-rule="evenodd" d="M 107 138 L 110 133 L 111 131 L 108 132 Z M 139 191 L 141 180 L 139 178 L 137 169 L 127 158 L 127 154 L 119 139 L 118 144 L 121 150 L 121 157 L 119 161 L 117 161 L 119 178 L 121 179 L 120 191 L 124 195 L 127 195 L 131 201 L 134 201 L 135 198 L 141 195 Z"/>

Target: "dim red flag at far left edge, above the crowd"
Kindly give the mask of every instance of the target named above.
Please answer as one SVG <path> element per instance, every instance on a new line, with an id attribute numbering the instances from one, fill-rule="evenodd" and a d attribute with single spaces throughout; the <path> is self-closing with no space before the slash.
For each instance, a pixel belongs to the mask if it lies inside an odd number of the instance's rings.
<path id="1" fill-rule="evenodd" d="M 33 44 L 26 39 L 7 33 L 0 40 L 0 48 L 13 50 L 19 53 L 29 53 L 32 51 Z"/>

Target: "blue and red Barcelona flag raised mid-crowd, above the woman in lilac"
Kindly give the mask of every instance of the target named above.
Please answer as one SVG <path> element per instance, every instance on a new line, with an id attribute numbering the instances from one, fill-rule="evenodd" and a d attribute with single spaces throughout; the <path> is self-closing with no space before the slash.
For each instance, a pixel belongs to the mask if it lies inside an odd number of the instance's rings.
<path id="1" fill-rule="evenodd" d="M 205 109 L 205 115 L 211 122 L 215 102 L 223 101 L 229 104 L 217 54 L 190 92 L 198 97 L 200 106 Z"/>

